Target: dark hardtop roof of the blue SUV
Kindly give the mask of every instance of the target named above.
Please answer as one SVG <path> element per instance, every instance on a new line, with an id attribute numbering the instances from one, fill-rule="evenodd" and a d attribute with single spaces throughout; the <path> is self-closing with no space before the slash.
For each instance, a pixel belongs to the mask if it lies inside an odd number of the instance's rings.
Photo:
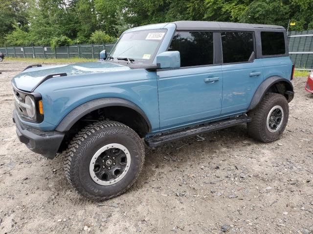
<path id="1" fill-rule="evenodd" d="M 252 23 L 231 23 L 216 21 L 175 21 L 177 30 L 227 30 L 255 31 L 257 29 L 285 30 L 283 26 Z"/>

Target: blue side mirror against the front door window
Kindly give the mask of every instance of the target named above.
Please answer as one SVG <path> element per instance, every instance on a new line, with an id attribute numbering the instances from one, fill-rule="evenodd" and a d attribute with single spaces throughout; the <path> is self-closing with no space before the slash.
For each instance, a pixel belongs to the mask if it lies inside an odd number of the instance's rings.
<path id="1" fill-rule="evenodd" d="M 180 67 L 179 51 L 165 51 L 156 56 L 156 64 L 160 64 L 161 69 L 173 69 Z"/>

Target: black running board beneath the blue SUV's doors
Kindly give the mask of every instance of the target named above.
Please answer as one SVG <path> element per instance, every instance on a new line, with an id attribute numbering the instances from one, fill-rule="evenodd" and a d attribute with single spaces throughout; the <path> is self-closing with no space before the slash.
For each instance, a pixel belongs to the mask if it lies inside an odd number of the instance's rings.
<path id="1" fill-rule="evenodd" d="M 178 140 L 185 137 L 192 137 L 202 133 L 214 132 L 223 128 L 228 128 L 242 123 L 250 122 L 251 118 L 247 116 L 241 116 L 236 118 L 228 118 L 216 122 L 201 124 L 195 127 L 185 128 L 182 130 L 172 131 L 157 135 L 153 137 L 147 137 L 145 139 L 147 145 L 150 147 L 156 147 L 163 143 L 167 143 L 173 140 Z"/>

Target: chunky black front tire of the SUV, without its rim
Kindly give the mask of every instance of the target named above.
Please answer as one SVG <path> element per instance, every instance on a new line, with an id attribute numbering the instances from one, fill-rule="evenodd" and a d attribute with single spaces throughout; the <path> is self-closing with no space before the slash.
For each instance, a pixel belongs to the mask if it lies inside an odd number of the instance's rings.
<path id="1" fill-rule="evenodd" d="M 94 153 L 104 145 L 122 144 L 130 152 L 131 165 L 127 174 L 112 185 L 99 185 L 89 175 L 89 163 Z M 98 121 L 78 132 L 68 145 L 65 174 L 68 182 L 90 200 L 107 200 L 123 194 L 138 178 L 144 164 L 144 145 L 128 126 L 115 121 Z"/>

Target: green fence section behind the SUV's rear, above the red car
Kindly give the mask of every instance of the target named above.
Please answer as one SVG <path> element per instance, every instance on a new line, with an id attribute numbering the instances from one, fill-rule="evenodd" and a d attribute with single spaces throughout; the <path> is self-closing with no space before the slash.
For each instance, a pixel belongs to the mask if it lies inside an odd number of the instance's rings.
<path id="1" fill-rule="evenodd" d="M 289 55 L 299 70 L 313 69 L 313 30 L 290 31 Z"/>

